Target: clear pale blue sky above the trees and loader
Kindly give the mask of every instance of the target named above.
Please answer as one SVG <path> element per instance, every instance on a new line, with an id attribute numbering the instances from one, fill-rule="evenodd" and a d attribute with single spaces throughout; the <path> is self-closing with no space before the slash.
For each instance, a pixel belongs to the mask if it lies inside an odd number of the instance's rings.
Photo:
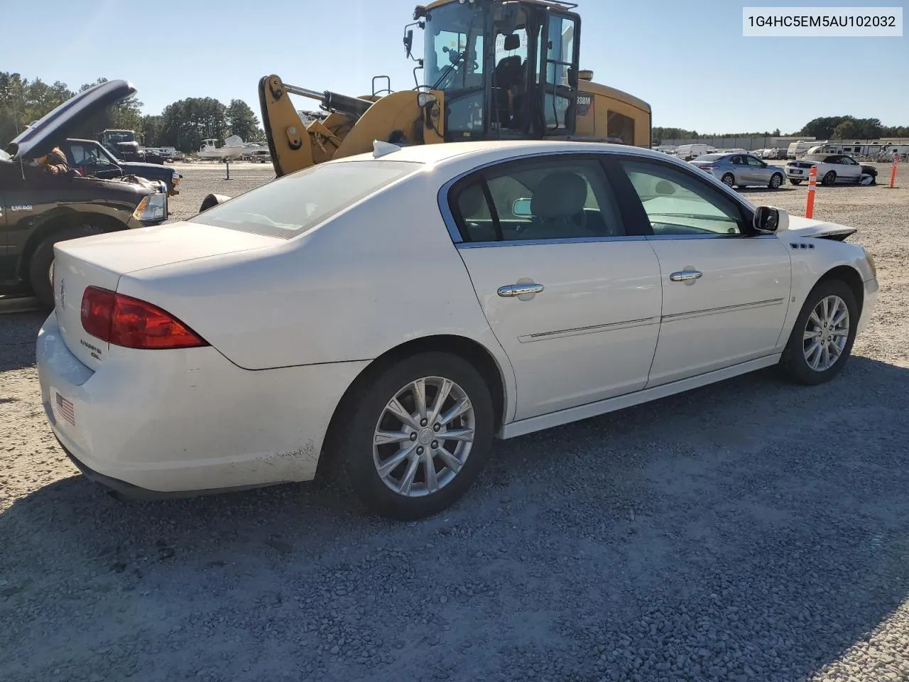
<path id="1" fill-rule="evenodd" d="M 758 5 L 756 0 L 578 3 L 581 67 L 593 69 L 595 81 L 649 102 L 654 125 L 701 133 L 779 127 L 785 133 L 815 116 L 843 114 L 909 125 L 909 35 L 745 38 L 742 6 Z M 101 75 L 125 78 L 138 88 L 148 114 L 177 99 L 206 95 L 225 104 L 245 99 L 258 113 L 256 88 L 268 74 L 347 95 L 370 92 L 376 74 L 390 75 L 395 89 L 413 87 L 413 63 L 405 59 L 401 37 L 416 4 L 9 0 L 0 19 L 7 26 L 0 68 L 47 82 L 62 80 L 73 89 Z M 36 19 L 45 22 L 45 30 L 35 26 Z M 19 26 L 22 30 L 9 30 Z M 62 42 L 51 47 L 42 35 Z M 419 36 L 415 44 L 422 50 Z M 297 108 L 315 108 L 313 101 L 296 101 Z"/>

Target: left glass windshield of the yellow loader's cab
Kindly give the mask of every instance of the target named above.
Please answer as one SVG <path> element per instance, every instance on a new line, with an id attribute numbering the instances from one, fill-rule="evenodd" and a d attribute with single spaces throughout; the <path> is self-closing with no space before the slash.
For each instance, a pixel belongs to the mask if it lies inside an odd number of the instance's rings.
<path id="1" fill-rule="evenodd" d="M 466 3 L 436 7 L 426 15 L 425 82 L 435 88 L 483 85 L 484 9 Z"/>

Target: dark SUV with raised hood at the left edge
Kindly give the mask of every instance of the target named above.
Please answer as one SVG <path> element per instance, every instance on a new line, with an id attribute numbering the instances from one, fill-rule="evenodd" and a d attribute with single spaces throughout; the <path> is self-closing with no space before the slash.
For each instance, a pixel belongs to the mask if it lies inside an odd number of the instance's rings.
<path id="1" fill-rule="evenodd" d="M 0 292 L 31 291 L 54 306 L 54 245 L 66 239 L 157 225 L 167 218 L 167 186 L 134 176 L 51 175 L 35 163 L 91 116 L 135 93 L 107 81 L 55 108 L 0 150 Z"/>

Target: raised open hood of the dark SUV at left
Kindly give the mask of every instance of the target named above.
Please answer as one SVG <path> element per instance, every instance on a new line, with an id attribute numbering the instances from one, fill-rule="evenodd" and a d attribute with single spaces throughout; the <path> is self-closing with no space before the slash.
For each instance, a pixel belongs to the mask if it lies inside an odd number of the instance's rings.
<path id="1" fill-rule="evenodd" d="M 14 160 L 43 156 L 61 145 L 67 137 L 73 136 L 76 127 L 84 124 L 89 117 L 130 95 L 135 95 L 135 87 L 127 81 L 107 81 L 90 87 L 26 128 L 24 133 L 6 145 L 6 153 Z"/>

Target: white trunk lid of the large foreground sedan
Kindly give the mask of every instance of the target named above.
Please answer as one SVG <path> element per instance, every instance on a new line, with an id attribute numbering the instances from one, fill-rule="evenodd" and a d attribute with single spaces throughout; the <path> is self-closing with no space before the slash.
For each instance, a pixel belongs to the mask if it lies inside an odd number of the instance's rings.
<path id="1" fill-rule="evenodd" d="M 116 291 L 120 277 L 137 270 L 282 244 L 285 240 L 277 237 L 201 223 L 171 223 L 59 242 L 54 246 L 54 303 L 61 336 L 73 355 L 97 369 L 108 344 L 82 326 L 87 286 Z"/>

